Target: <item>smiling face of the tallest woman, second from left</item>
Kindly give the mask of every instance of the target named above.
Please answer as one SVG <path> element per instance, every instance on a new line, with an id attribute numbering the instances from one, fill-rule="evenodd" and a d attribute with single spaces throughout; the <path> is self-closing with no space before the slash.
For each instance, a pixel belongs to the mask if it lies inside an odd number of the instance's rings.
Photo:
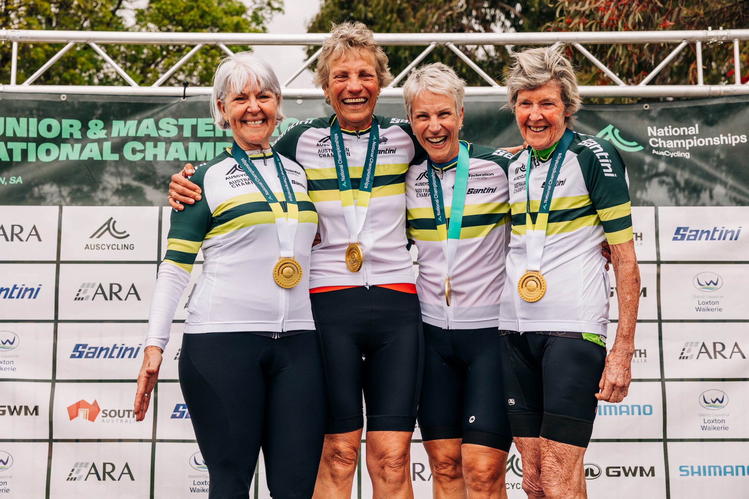
<path id="1" fill-rule="evenodd" d="M 350 50 L 330 61 L 330 76 L 323 91 L 342 129 L 368 128 L 380 95 L 375 55 L 369 50 Z"/>

